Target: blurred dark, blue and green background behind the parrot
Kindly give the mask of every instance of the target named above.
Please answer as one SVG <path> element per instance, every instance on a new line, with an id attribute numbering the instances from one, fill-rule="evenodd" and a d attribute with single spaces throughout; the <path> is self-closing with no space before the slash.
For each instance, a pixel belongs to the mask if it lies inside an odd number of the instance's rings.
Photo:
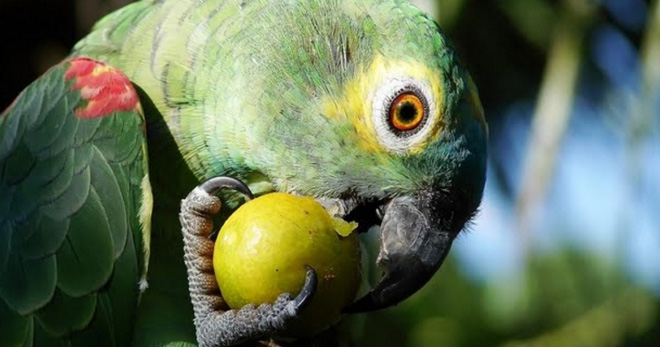
<path id="1" fill-rule="evenodd" d="M 127 0 L 0 0 L 0 109 Z M 658 0 L 417 0 L 490 125 L 481 212 L 364 346 L 660 346 Z"/>

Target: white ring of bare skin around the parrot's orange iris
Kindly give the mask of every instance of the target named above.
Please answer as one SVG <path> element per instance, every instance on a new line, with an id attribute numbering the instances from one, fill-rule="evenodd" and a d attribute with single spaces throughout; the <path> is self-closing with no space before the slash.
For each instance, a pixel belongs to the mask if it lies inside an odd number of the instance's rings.
<path id="1" fill-rule="evenodd" d="M 392 125 L 390 109 L 392 103 L 406 93 L 412 93 L 422 101 L 424 118 L 414 129 L 401 131 Z M 437 117 L 435 105 L 431 87 L 425 81 L 410 77 L 392 77 L 385 80 L 374 95 L 371 117 L 381 145 L 395 153 L 407 153 L 411 147 L 429 135 Z"/>

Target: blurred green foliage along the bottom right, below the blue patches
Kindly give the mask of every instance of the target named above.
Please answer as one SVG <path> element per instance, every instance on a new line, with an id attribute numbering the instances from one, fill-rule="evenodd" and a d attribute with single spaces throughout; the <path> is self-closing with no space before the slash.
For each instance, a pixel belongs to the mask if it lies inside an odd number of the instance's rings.
<path id="1" fill-rule="evenodd" d="M 371 314 L 364 346 L 657 346 L 657 297 L 580 252 L 532 258 L 513 281 L 475 284 L 453 261 L 419 294 Z"/>

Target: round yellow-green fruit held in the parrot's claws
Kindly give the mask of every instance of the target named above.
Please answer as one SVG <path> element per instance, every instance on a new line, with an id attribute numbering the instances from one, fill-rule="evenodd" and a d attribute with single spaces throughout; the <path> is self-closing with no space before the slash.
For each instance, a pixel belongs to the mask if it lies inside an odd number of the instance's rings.
<path id="1" fill-rule="evenodd" d="M 222 296 L 236 309 L 272 303 L 282 293 L 295 296 L 310 265 L 318 275 L 317 291 L 285 335 L 318 333 L 355 298 L 360 255 L 354 228 L 309 197 L 272 193 L 245 203 L 215 243 L 213 266 Z"/>

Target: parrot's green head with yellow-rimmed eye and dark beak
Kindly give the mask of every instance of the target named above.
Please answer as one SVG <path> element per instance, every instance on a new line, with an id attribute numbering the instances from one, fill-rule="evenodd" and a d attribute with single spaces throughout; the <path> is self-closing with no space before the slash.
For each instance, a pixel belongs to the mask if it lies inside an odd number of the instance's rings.
<path id="1" fill-rule="evenodd" d="M 480 204 L 488 131 L 476 87 L 438 25 L 406 2 L 291 3 L 262 18 L 278 22 L 263 25 L 270 39 L 254 42 L 243 71 L 250 98 L 230 110 L 250 119 L 235 140 L 241 161 L 276 190 L 380 224 L 383 277 L 347 311 L 397 304 Z"/>

